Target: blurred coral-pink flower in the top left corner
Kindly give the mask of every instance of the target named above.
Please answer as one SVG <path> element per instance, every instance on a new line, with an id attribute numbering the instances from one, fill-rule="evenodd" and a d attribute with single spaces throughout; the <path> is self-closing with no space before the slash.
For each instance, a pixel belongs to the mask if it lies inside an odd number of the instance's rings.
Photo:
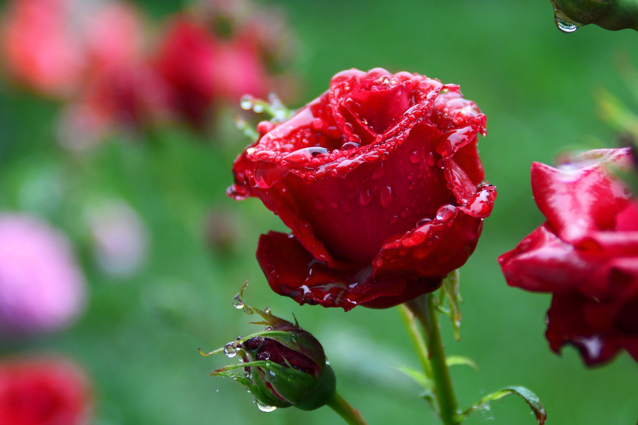
<path id="1" fill-rule="evenodd" d="M 115 1 L 13 0 L 4 13 L 1 48 L 10 77 L 68 98 L 92 70 L 136 57 L 141 27 L 137 12 Z"/>

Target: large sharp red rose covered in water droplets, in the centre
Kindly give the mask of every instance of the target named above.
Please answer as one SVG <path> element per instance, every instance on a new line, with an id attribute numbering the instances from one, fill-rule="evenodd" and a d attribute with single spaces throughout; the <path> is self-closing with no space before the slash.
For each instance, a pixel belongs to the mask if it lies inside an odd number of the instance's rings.
<path id="1" fill-rule="evenodd" d="M 346 310 L 436 290 L 496 197 L 480 184 L 485 122 L 458 86 L 377 68 L 338 73 L 288 121 L 261 123 L 229 195 L 260 198 L 292 229 L 260 238 L 272 289 Z"/>

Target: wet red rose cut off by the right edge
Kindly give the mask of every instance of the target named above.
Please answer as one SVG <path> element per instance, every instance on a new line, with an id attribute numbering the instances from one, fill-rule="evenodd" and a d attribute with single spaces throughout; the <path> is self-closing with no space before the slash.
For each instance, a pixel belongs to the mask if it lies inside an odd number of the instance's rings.
<path id="1" fill-rule="evenodd" d="M 609 172 L 630 158 L 598 149 L 560 169 L 533 163 L 547 221 L 498 258 L 508 285 L 553 294 L 549 345 L 574 345 L 588 365 L 622 348 L 638 360 L 638 200 Z"/>

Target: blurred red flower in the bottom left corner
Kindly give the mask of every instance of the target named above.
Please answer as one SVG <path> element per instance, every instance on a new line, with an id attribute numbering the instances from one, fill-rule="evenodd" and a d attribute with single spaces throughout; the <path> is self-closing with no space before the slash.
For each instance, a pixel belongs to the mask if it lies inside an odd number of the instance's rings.
<path id="1" fill-rule="evenodd" d="M 0 424 L 89 424 L 87 379 L 68 361 L 0 362 Z"/>

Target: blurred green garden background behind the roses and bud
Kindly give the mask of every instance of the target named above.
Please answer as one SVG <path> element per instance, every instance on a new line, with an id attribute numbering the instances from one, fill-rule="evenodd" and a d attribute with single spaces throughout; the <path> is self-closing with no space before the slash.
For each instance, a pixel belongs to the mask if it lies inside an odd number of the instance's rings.
<path id="1" fill-rule="evenodd" d="M 137 4 L 159 22 L 188 3 Z M 479 148 L 498 199 L 461 270 L 461 341 L 443 325 L 448 354 L 467 355 L 480 367 L 478 373 L 452 369 L 460 405 L 524 385 L 545 403 L 549 424 L 635 424 L 636 362 L 623 353 L 587 369 L 572 348 L 554 355 L 544 339 L 549 295 L 507 287 L 496 257 L 543 220 L 531 197 L 532 161 L 553 163 L 565 149 L 617 144 L 597 119 L 595 98 L 604 87 L 636 107 L 617 59 L 628 55 L 638 64 L 638 34 L 595 26 L 560 33 L 544 0 L 268 4 L 285 11 L 300 39 L 296 71 L 303 100 L 325 91 L 340 70 L 380 66 L 460 84 L 487 115 L 489 134 Z M 250 279 L 245 301 L 288 319 L 294 314 L 313 332 L 336 371 L 338 391 L 369 424 L 436 423 L 417 385 L 396 369 L 418 368 L 418 362 L 395 309 L 299 307 L 269 290 L 255 260 L 256 241 L 260 233 L 285 229 L 258 200 L 225 197 L 232 160 L 248 143 L 230 116 L 214 137 L 170 128 L 141 143 L 112 137 L 90 156 L 77 157 L 55 140 L 57 111 L 53 101 L 0 86 L 0 208 L 40 214 L 71 236 L 89 281 L 89 306 L 61 334 L 0 350 L 77 359 L 94 380 L 98 425 L 338 423 L 328 408 L 265 414 L 241 385 L 207 376 L 235 359 L 201 357 L 198 347 L 212 350 L 258 329 L 231 304 Z M 77 225 L 93 198 L 126 200 L 149 227 L 151 252 L 135 276 L 107 278 L 96 269 Z M 236 224 L 224 249 L 207 246 L 211 211 Z M 466 423 L 484 422 L 535 423 L 515 397 Z"/>

